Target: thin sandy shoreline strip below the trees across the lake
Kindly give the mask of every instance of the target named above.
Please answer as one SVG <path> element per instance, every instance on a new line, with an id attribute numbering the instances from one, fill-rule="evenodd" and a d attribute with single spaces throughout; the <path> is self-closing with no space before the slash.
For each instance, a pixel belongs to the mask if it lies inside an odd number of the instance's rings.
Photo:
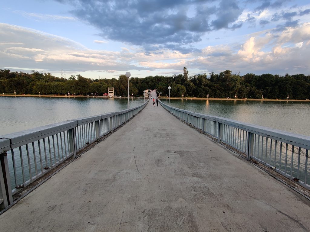
<path id="1" fill-rule="evenodd" d="M 71 97 L 87 97 L 87 98 L 109 98 L 109 97 L 103 97 L 103 96 L 79 96 L 79 95 L 75 95 L 75 96 L 64 96 L 64 95 L 22 95 L 22 94 L 0 94 L 0 97 L 66 97 L 66 98 L 71 98 Z M 127 98 L 127 97 L 115 97 L 115 98 Z M 130 96 L 131 98 L 131 96 Z M 136 97 L 134 97 L 136 98 Z M 143 97 L 141 97 L 143 99 Z M 168 99 L 165 97 L 162 97 L 162 99 Z M 294 99 L 239 99 L 239 98 L 206 98 L 206 97 L 170 97 L 170 99 L 183 99 L 183 100 L 215 100 L 215 101 L 304 101 L 304 102 L 310 102 L 310 100 L 294 100 Z"/>

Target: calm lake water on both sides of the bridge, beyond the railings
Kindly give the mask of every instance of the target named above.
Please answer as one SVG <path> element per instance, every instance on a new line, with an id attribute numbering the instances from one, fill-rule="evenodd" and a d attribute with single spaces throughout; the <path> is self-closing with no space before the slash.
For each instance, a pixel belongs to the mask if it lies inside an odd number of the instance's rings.
<path id="1" fill-rule="evenodd" d="M 164 103 L 168 103 L 163 98 Z M 130 108 L 144 99 L 130 100 Z M 310 135 L 310 103 L 298 101 L 171 100 L 170 105 L 296 134 Z M 126 98 L 0 97 L 0 135 L 55 122 L 125 110 Z"/>

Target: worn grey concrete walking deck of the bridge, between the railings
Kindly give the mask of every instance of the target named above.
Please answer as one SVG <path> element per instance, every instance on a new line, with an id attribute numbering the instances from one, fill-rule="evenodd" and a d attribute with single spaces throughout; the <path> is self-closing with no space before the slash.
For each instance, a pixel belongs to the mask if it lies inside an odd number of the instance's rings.
<path id="1" fill-rule="evenodd" d="M 0 231 L 308 231 L 310 202 L 149 102 Z"/>

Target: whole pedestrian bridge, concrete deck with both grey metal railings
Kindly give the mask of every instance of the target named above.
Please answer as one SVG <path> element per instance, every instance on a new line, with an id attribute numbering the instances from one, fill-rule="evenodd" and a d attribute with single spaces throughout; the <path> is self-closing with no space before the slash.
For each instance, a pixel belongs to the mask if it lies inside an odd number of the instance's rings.
<path id="1" fill-rule="evenodd" d="M 308 231 L 309 147 L 307 136 L 152 101 L 10 134 L 0 230 Z"/>

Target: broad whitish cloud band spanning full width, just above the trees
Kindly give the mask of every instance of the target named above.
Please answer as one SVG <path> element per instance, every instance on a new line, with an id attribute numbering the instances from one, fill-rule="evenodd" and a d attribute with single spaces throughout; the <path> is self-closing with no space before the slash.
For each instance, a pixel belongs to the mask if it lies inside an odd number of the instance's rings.
<path id="1" fill-rule="evenodd" d="M 279 34 L 256 32 L 241 45 L 206 46 L 195 53 L 182 54 L 168 49 L 145 53 L 134 46 L 118 52 L 87 49 L 75 41 L 28 28 L 0 24 L 0 60 L 3 67 L 37 67 L 37 70 L 66 73 L 95 71 L 122 73 L 135 71 L 141 77 L 149 72 L 179 72 L 183 67 L 196 72 L 229 69 L 241 75 L 273 73 L 310 73 L 310 25 L 290 28 Z M 267 31 L 268 32 L 268 31 Z M 10 41 L 10 42 L 8 42 Z M 1 67 L 0 67 L 1 68 Z M 287 68 L 287 70 L 285 70 Z M 207 71 L 206 71 L 207 70 Z M 101 74 L 100 74 L 101 75 Z M 156 75 L 156 74 L 155 74 Z M 87 77 L 87 75 L 85 75 Z M 95 77 L 97 78 L 97 77 Z"/>

